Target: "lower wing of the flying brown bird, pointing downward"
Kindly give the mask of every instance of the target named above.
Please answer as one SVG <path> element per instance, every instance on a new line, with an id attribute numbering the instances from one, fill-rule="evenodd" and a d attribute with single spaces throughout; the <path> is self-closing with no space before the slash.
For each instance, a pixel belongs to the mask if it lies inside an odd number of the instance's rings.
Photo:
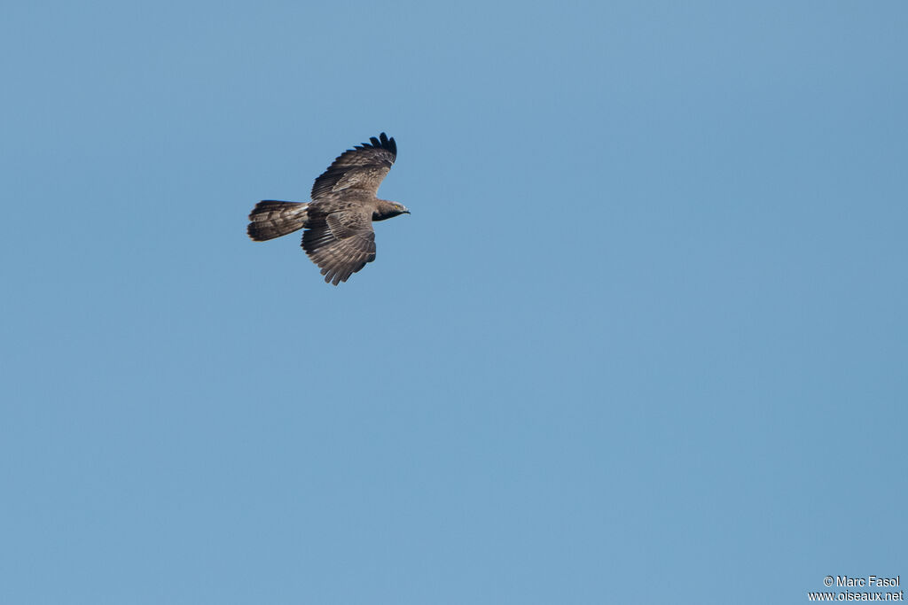
<path id="1" fill-rule="evenodd" d="M 302 234 L 302 248 L 337 286 L 375 260 L 371 210 L 351 206 L 312 220 Z"/>

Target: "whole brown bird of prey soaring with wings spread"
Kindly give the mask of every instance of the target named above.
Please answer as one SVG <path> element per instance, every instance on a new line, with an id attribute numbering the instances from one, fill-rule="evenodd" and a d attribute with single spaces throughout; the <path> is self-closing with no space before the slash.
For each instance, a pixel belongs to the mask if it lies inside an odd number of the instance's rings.
<path id="1" fill-rule="evenodd" d="M 297 229 L 302 249 L 337 286 L 375 260 L 373 220 L 410 214 L 396 201 L 379 200 L 379 185 L 397 158 L 397 143 L 382 132 L 344 151 L 312 184 L 311 201 L 262 200 L 249 215 L 246 232 L 255 241 Z"/>

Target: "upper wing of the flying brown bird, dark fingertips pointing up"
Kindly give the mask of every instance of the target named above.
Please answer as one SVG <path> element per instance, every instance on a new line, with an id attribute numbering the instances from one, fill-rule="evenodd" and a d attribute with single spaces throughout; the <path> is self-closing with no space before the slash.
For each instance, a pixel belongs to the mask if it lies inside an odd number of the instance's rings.
<path id="1" fill-rule="evenodd" d="M 374 197 L 397 158 L 397 143 L 384 132 L 344 151 L 312 184 L 312 200 L 343 190 L 366 191 Z"/>

